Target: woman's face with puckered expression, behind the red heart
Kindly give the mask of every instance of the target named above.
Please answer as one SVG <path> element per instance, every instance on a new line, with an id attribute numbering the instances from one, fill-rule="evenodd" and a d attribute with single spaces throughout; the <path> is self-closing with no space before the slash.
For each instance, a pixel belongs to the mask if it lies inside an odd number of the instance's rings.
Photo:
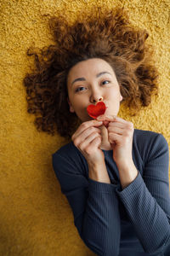
<path id="1" fill-rule="evenodd" d="M 87 113 L 89 104 L 105 102 L 105 114 L 116 115 L 122 95 L 116 75 L 110 64 L 94 58 L 78 62 L 71 67 L 67 78 L 68 103 L 82 122 L 91 120 Z"/>

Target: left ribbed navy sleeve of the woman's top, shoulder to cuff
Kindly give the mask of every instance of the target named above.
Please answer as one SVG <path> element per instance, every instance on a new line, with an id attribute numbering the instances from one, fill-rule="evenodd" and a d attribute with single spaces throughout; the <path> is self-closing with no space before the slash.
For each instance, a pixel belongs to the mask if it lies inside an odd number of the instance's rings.
<path id="1" fill-rule="evenodd" d="M 86 178 L 68 155 L 53 154 L 53 167 L 82 241 L 97 255 L 118 255 L 121 236 L 116 184 Z"/>

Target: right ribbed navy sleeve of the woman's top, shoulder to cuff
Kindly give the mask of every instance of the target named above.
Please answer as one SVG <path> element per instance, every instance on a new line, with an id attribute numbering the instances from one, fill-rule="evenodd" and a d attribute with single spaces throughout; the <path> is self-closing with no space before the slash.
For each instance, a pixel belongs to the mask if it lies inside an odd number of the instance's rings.
<path id="1" fill-rule="evenodd" d="M 145 253 L 170 255 L 169 153 L 166 139 L 152 139 L 143 177 L 140 172 L 125 189 L 116 189 Z M 163 253 L 163 254 L 162 254 Z M 157 254 L 156 254 L 157 255 Z"/>

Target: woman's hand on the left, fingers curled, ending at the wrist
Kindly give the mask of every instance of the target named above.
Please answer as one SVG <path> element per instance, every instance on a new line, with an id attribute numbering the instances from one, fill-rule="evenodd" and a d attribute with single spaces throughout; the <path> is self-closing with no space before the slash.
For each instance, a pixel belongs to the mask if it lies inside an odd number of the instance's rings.
<path id="1" fill-rule="evenodd" d="M 74 145 L 91 165 L 105 162 L 105 154 L 99 148 L 102 137 L 98 127 L 101 125 L 103 123 L 96 119 L 83 122 L 71 137 Z"/>

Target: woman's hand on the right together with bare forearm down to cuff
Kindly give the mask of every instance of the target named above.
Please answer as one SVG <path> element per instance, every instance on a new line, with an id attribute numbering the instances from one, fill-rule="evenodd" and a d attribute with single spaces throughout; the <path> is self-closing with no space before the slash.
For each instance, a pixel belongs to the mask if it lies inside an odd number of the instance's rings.
<path id="1" fill-rule="evenodd" d="M 99 117 L 108 130 L 108 140 L 113 148 L 113 159 L 119 171 L 122 189 L 125 189 L 138 176 L 133 163 L 133 123 L 116 116 Z"/>

